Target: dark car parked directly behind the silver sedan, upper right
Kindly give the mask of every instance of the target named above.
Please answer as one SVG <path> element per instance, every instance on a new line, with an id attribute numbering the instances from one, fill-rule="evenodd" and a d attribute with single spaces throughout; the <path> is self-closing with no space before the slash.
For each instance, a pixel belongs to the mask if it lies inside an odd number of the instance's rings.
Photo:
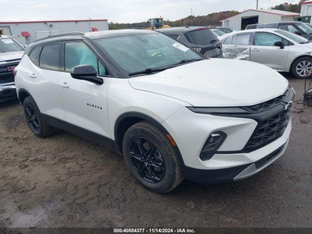
<path id="1" fill-rule="evenodd" d="M 246 29 L 256 29 L 256 28 L 282 29 L 282 30 L 297 34 L 306 39 L 312 40 L 312 28 L 310 28 L 307 24 L 300 22 L 300 21 L 250 24 L 250 25 L 247 25 L 246 27 Z"/>

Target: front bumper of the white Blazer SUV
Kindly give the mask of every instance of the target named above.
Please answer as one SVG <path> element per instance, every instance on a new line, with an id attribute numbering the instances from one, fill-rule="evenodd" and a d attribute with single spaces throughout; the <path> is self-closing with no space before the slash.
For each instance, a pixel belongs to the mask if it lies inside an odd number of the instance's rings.
<path id="1" fill-rule="evenodd" d="M 281 137 L 257 150 L 241 153 L 257 126 L 254 119 L 202 115 L 185 109 L 177 111 L 163 125 L 176 141 L 183 159 L 183 176 L 187 180 L 219 183 L 247 178 L 270 165 L 287 147 L 291 121 Z M 218 150 L 221 152 L 202 161 L 199 155 L 207 137 L 218 130 L 228 136 Z"/>

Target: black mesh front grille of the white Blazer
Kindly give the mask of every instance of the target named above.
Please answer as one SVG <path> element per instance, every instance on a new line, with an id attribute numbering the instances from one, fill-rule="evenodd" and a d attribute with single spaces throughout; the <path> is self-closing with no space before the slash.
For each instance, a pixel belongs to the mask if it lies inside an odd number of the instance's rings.
<path id="1" fill-rule="evenodd" d="M 280 111 L 273 116 L 257 119 L 258 125 L 244 147 L 245 152 L 260 149 L 283 135 L 291 118 L 292 95 L 293 90 L 289 87 L 283 95 L 277 98 L 244 108 L 254 115 L 259 116 L 263 113 L 270 112 L 270 110 L 280 108 Z M 287 105 L 289 106 L 285 108 Z"/>

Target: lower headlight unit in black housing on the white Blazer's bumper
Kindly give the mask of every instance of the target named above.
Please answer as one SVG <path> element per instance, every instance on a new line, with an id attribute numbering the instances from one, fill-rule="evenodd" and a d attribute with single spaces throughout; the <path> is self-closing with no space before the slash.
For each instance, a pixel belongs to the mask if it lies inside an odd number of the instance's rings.
<path id="1" fill-rule="evenodd" d="M 205 161 L 212 158 L 212 156 L 214 156 L 215 152 L 220 148 L 226 137 L 226 133 L 222 131 L 212 133 L 208 137 L 203 149 L 201 150 L 199 156 L 200 159 Z"/>

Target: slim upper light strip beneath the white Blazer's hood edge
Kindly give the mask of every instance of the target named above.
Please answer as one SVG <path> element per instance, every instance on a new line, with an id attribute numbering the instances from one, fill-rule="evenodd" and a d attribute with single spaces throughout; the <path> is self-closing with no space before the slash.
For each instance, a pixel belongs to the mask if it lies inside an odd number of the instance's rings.
<path id="1" fill-rule="evenodd" d="M 191 107 L 191 106 L 187 106 L 186 108 L 198 114 L 211 114 L 211 115 L 250 114 L 249 111 L 246 111 L 240 107 Z"/>

